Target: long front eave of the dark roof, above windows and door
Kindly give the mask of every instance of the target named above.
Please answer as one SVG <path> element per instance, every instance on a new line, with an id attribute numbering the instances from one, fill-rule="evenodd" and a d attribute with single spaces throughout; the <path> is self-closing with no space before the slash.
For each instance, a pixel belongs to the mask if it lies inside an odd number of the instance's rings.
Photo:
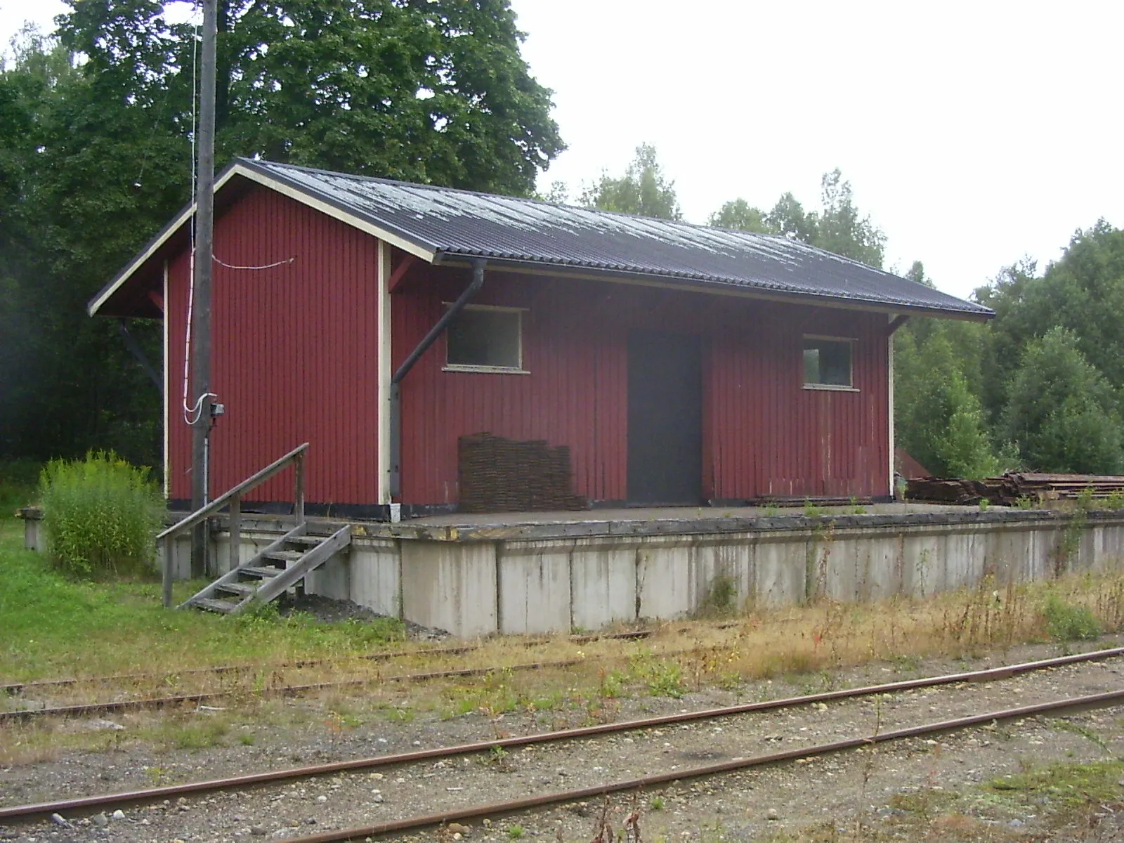
<path id="1" fill-rule="evenodd" d="M 798 292 L 754 288 L 746 284 L 731 283 L 718 279 L 694 278 L 689 275 L 655 272 L 636 272 L 622 269 L 582 266 L 574 264 L 553 263 L 546 261 L 528 261 L 514 257 L 495 257 L 491 255 L 460 254 L 438 252 L 433 263 L 447 266 L 471 266 L 472 261 L 486 257 L 492 270 L 506 270 L 528 275 L 564 275 L 572 279 L 590 281 L 613 281 L 617 283 L 638 284 L 643 287 L 661 287 L 676 290 L 694 289 L 716 296 L 734 296 L 738 298 L 758 299 L 762 301 L 780 301 L 786 303 L 815 305 L 840 310 L 864 310 L 867 312 L 914 314 L 937 319 L 957 319 L 960 321 L 988 321 L 995 318 L 995 311 L 982 305 L 979 310 L 959 310 L 936 306 L 910 305 L 906 302 L 865 299 L 845 296 L 828 296 L 816 292 Z"/>

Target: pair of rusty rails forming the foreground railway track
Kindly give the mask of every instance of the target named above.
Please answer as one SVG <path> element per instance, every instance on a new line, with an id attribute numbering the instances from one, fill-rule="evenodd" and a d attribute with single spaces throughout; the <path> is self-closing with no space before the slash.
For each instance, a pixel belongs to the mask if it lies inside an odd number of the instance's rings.
<path id="1" fill-rule="evenodd" d="M 694 711 L 681 711 L 678 714 L 662 715 L 658 717 L 646 717 L 633 720 L 623 720 L 597 726 L 564 729 L 556 732 L 544 732 L 516 737 L 502 737 L 492 741 L 479 741 L 474 743 L 459 744 L 454 746 L 441 746 L 435 749 L 419 750 L 414 752 L 379 755 L 373 758 L 353 759 L 337 761 L 327 764 L 316 764 L 308 767 L 290 768 L 287 770 L 272 770 L 268 772 L 252 773 L 224 779 L 211 779 L 203 781 L 188 782 L 143 790 L 133 790 L 117 794 L 99 796 L 88 796 L 76 799 L 64 799 L 34 805 L 12 806 L 0 808 L 0 822 L 28 822 L 52 814 L 74 815 L 75 813 L 93 813 L 110 808 L 146 804 L 171 798 L 179 798 L 188 795 L 205 795 L 219 791 L 241 790 L 252 787 L 260 787 L 271 783 L 287 783 L 300 779 L 309 779 L 335 773 L 348 773 L 357 771 L 370 771 L 379 768 L 401 767 L 415 764 L 423 761 L 453 759 L 461 755 L 493 752 L 496 750 L 509 750 L 519 746 L 532 746 L 536 744 L 556 743 L 564 741 L 580 741 L 583 738 L 613 735 L 618 733 L 635 732 L 641 729 L 652 729 L 660 726 L 677 724 L 688 724 L 698 720 L 713 720 L 735 715 L 751 713 L 777 711 L 781 709 L 825 704 L 828 701 L 840 701 L 858 699 L 863 697 L 878 697 L 882 695 L 900 694 L 904 691 L 917 690 L 922 688 L 936 688 L 967 682 L 994 682 L 1012 679 L 1026 673 L 1044 671 L 1066 665 L 1090 663 L 1115 659 L 1124 655 L 1124 647 L 1111 650 L 1099 650 L 1089 653 L 1060 656 L 1057 659 L 1045 659 L 1034 662 L 990 668 L 980 671 L 969 671 L 962 673 L 950 673 L 921 679 L 910 679 L 898 682 L 887 682 L 882 685 L 864 686 L 822 694 L 805 695 L 799 697 L 788 697 L 759 703 L 746 703 L 736 706 L 722 708 L 709 708 Z M 835 741 L 814 746 L 804 746 L 783 752 L 755 755 L 752 758 L 734 759 L 716 764 L 708 764 L 695 768 L 680 768 L 667 772 L 655 773 L 642 778 L 626 779 L 617 782 L 598 785 L 589 788 L 564 790 L 551 794 L 543 794 L 526 799 L 509 800 L 505 803 L 491 803 L 481 806 L 456 808 L 441 814 L 427 814 L 406 819 L 392 821 L 362 828 L 351 828 L 328 834 L 312 835 L 299 839 L 302 843 L 326 843 L 327 841 L 351 840 L 352 837 L 364 837 L 373 835 L 384 835 L 393 832 L 405 832 L 420 830 L 437 825 L 443 822 L 469 819 L 481 816 L 497 816 L 526 808 L 542 807 L 559 803 L 587 799 L 593 796 L 638 790 L 645 787 L 654 787 L 673 780 L 701 778 L 717 776 L 736 770 L 744 770 L 752 767 L 763 767 L 768 764 L 781 763 L 800 758 L 812 758 L 815 755 L 843 752 L 859 746 L 882 743 L 886 741 L 898 741 L 907 737 L 921 737 L 941 732 L 970 728 L 990 724 L 992 720 L 1007 720 L 1015 718 L 1034 717 L 1040 715 L 1062 715 L 1073 714 L 1082 710 L 1106 708 L 1124 705 L 1124 690 L 1114 690 L 1104 694 L 1087 695 L 1081 697 L 1069 697 L 1049 703 L 1040 703 L 1017 708 L 990 710 L 960 717 L 949 720 L 928 723 L 922 726 L 910 726 L 907 728 L 892 729 L 880 734 L 855 736 L 842 741 Z"/>

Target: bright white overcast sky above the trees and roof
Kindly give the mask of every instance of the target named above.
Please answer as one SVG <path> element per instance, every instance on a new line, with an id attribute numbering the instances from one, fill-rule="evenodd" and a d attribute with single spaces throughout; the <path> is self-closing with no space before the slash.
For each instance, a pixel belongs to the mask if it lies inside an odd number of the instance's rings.
<path id="1" fill-rule="evenodd" d="M 688 220 L 819 201 L 840 167 L 887 235 L 967 296 L 1099 217 L 1124 225 L 1124 3 L 513 0 L 577 194 L 655 145 Z M 0 0 L 7 44 L 58 0 Z"/>

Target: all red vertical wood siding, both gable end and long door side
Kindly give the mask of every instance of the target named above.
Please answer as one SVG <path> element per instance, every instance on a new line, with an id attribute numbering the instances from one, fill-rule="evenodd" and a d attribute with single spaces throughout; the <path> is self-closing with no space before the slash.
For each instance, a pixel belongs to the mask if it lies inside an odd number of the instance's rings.
<path id="1" fill-rule="evenodd" d="M 308 500 L 378 500 L 378 242 L 265 189 L 216 221 L 212 495 L 310 442 Z M 396 253 L 400 259 L 400 253 Z M 171 495 L 190 497 L 180 408 L 188 255 L 170 264 Z M 415 264 L 391 294 L 392 363 L 420 342 L 469 272 Z M 881 496 L 889 488 L 887 317 L 591 280 L 489 271 L 477 303 L 526 308 L 529 374 L 444 372 L 441 338 L 401 386 L 406 504 L 457 500 L 456 441 L 488 430 L 569 445 L 574 489 L 626 500 L 627 337 L 703 339 L 706 498 Z M 805 334 L 854 338 L 858 391 L 801 388 Z M 673 408 L 669 408 L 673 411 Z M 257 500 L 290 500 L 288 475 Z"/>

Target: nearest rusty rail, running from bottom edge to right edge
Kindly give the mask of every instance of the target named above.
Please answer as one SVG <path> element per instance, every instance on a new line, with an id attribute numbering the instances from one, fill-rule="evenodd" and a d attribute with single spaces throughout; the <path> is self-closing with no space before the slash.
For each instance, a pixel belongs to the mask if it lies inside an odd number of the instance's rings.
<path id="1" fill-rule="evenodd" d="M 1019 708 L 1005 708 L 998 711 L 959 717 L 952 720 L 941 720 L 927 723 L 923 726 L 910 726 L 892 732 L 868 735 L 865 737 L 850 737 L 832 743 L 816 744 L 796 750 L 785 750 L 773 752 L 768 755 L 754 755 L 753 758 L 733 759 L 717 764 L 705 767 L 691 767 L 686 770 L 672 770 L 670 772 L 643 776 L 638 779 L 627 779 L 614 781 L 606 785 L 595 785 L 577 790 L 562 790 L 541 796 L 531 796 L 524 799 L 511 799 L 504 803 L 490 803 L 487 805 L 475 805 L 469 808 L 459 808 L 438 814 L 425 814 L 423 816 L 407 817 L 405 819 L 392 819 L 386 823 L 361 826 L 357 828 L 344 828 L 336 832 L 325 832 L 323 834 L 311 834 L 305 837 L 289 837 L 290 843 L 338 843 L 339 841 L 363 840 L 383 836 L 395 832 L 416 832 L 423 828 L 432 828 L 445 823 L 460 822 L 462 819 L 477 819 L 479 817 L 495 817 L 511 814 L 528 808 L 541 808 L 547 805 L 560 803 L 572 803 L 581 799 L 591 799 L 609 794 L 623 791 L 643 791 L 645 788 L 660 785 L 670 785 L 673 781 L 683 779 L 700 779 L 722 773 L 738 772 L 758 767 L 769 767 L 785 761 L 796 759 L 815 758 L 817 755 L 830 755 L 846 750 L 855 750 L 862 746 L 873 746 L 890 741 L 903 741 L 910 737 L 924 737 L 943 732 L 957 732 L 972 726 L 982 726 L 999 720 L 1010 720 L 1024 717 L 1036 717 L 1043 714 L 1077 714 L 1096 708 L 1109 708 L 1124 703 L 1124 690 L 1109 691 L 1107 694 L 1094 694 L 1087 697 L 1071 697 L 1068 699 L 1054 700 L 1052 703 L 1041 703 L 1032 706 L 1021 706 Z"/>

